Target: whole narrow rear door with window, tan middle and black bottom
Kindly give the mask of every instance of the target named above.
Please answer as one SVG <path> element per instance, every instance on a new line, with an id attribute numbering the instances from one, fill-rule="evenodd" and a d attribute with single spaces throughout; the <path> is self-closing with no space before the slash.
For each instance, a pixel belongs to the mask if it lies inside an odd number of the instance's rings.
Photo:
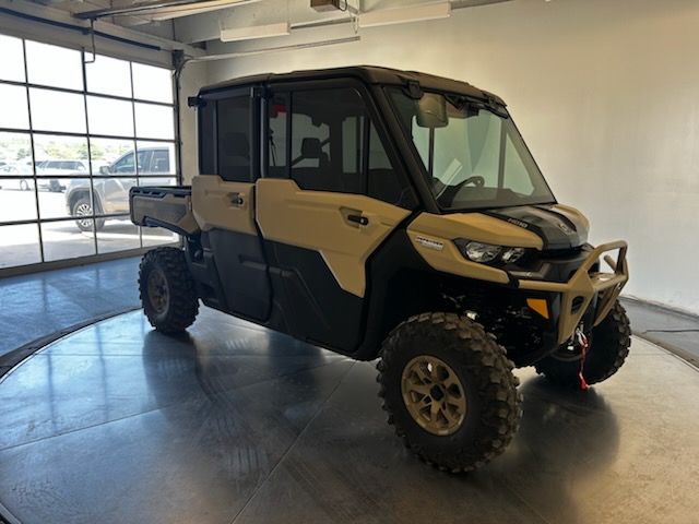
<path id="1" fill-rule="evenodd" d="M 228 309 L 265 321 L 272 288 L 254 222 L 260 97 L 252 93 L 237 88 L 200 99 L 200 175 L 192 180 L 192 209 Z"/>

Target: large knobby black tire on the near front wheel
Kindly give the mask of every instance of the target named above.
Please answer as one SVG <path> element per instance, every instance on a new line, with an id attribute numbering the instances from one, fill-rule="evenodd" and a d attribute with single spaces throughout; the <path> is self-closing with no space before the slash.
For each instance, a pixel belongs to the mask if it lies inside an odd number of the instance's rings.
<path id="1" fill-rule="evenodd" d="M 425 429 L 424 420 L 418 424 L 408 408 L 414 409 L 415 403 L 405 400 L 405 371 L 422 357 L 445 365 L 462 388 L 465 413 L 443 434 Z M 384 341 L 377 369 L 388 422 L 407 449 L 439 469 L 460 473 L 481 467 L 502 453 L 517 432 L 522 409 L 513 362 L 493 334 L 465 317 L 440 312 L 412 317 Z M 420 379 L 418 386 L 427 382 Z"/>

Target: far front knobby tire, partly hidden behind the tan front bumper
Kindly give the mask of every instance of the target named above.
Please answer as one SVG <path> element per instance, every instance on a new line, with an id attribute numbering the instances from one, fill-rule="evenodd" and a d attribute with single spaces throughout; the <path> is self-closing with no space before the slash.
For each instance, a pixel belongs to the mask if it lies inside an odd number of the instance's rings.
<path id="1" fill-rule="evenodd" d="M 582 376 L 588 384 L 596 384 L 616 373 L 624 365 L 631 345 L 631 326 L 626 310 L 617 300 L 605 319 L 592 329 Z M 550 355 L 536 362 L 536 372 L 564 388 L 579 388 L 580 357 L 557 358 Z"/>

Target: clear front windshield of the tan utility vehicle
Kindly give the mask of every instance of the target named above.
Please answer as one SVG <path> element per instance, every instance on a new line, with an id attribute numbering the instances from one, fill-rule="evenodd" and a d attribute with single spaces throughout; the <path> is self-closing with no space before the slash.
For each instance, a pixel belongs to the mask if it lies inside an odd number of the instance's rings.
<path id="1" fill-rule="evenodd" d="M 459 95 L 424 93 L 416 100 L 401 88 L 388 91 L 442 210 L 555 202 L 503 108 Z"/>

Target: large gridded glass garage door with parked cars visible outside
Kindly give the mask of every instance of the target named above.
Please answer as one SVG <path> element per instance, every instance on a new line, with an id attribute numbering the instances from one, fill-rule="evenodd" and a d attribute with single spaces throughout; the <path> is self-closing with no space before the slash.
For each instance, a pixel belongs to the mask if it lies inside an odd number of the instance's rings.
<path id="1" fill-rule="evenodd" d="M 168 69 L 0 35 L 0 274 L 176 241 L 128 216 L 176 183 L 175 130 Z"/>

